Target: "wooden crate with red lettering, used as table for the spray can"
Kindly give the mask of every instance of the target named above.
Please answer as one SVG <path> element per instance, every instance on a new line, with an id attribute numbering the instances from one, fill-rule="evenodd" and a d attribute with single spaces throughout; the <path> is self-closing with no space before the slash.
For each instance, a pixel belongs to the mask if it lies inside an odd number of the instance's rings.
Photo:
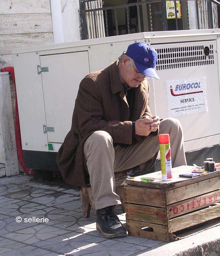
<path id="1" fill-rule="evenodd" d="M 126 179 L 124 199 L 128 233 L 160 241 L 173 241 L 173 233 L 220 216 L 220 172 L 192 179 L 179 178 L 195 167 L 173 168 L 164 182 L 161 172 Z M 141 178 L 153 178 L 143 182 Z"/>

